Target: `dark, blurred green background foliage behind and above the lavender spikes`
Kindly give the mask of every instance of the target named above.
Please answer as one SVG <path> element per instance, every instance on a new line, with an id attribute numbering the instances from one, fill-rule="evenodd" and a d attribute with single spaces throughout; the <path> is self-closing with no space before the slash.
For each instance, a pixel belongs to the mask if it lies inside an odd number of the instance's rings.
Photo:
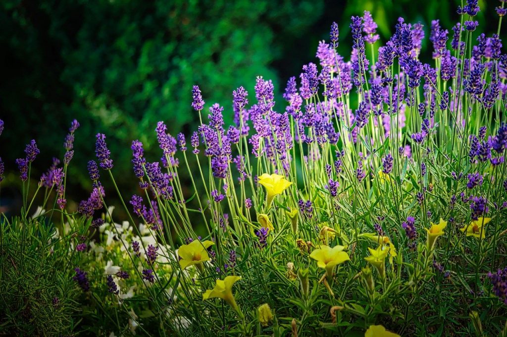
<path id="1" fill-rule="evenodd" d="M 0 156 L 10 175 L 3 204 L 18 200 L 14 160 L 37 140 L 34 183 L 62 158 L 70 121 L 81 123 L 69 167 L 68 196 L 79 201 L 90 190 L 86 162 L 94 158 L 94 135 L 107 136 L 114 172 L 126 197 L 137 183 L 131 173 L 130 143 L 139 139 L 148 157 L 160 157 L 154 129 L 164 120 L 169 132 L 187 135 L 197 128 L 191 89 L 198 84 L 206 107 L 219 102 L 232 118 L 232 91 L 244 86 L 255 101 L 255 78 L 275 85 L 278 110 L 288 77 L 316 62 L 318 41 L 340 27 L 339 52 L 349 59 L 350 16 L 372 12 L 381 43 L 399 16 L 424 24 L 432 19 L 451 31 L 459 1 L 142 1 L 4 0 L 0 2 Z M 496 31 L 497 1 L 480 1 L 477 19 Z M 452 31 L 451 31 L 452 34 Z M 380 43 L 377 42 L 377 47 Z M 425 42 L 422 57 L 430 61 Z M 275 108 L 276 108 L 275 107 Z M 185 179 L 183 177 L 182 179 Z M 106 183 L 106 187 L 107 182 Z M 112 191 L 111 189 L 109 189 Z"/>

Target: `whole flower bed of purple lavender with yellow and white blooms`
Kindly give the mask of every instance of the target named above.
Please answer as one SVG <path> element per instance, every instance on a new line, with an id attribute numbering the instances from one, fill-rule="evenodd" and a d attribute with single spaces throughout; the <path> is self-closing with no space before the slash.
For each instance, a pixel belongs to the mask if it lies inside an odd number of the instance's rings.
<path id="1" fill-rule="evenodd" d="M 354 16 L 346 61 L 333 23 L 319 66 L 288 80 L 286 104 L 262 76 L 255 94 L 233 91 L 232 108 L 206 105 L 195 86 L 198 130 L 173 137 L 160 121 L 161 158 L 131 143 L 135 195 L 117 188 L 127 173 L 97 134 L 90 196 L 67 207 L 76 120 L 63 164 L 33 191 L 31 141 L 16 161 L 21 216 L 1 220 L 2 330 L 507 335 L 507 9 L 491 36 L 479 10 L 462 4 L 451 33 L 431 22 L 433 64 L 419 61 L 421 24 L 400 18 L 378 47 L 370 13 Z"/>

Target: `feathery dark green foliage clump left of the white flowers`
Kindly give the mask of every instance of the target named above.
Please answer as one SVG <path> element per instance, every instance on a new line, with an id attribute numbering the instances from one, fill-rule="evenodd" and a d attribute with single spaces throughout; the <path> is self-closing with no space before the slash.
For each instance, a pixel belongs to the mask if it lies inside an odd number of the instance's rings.
<path id="1" fill-rule="evenodd" d="M 2 219 L 0 226 L 0 333 L 69 334 L 78 293 L 55 227 L 18 218 Z"/>

